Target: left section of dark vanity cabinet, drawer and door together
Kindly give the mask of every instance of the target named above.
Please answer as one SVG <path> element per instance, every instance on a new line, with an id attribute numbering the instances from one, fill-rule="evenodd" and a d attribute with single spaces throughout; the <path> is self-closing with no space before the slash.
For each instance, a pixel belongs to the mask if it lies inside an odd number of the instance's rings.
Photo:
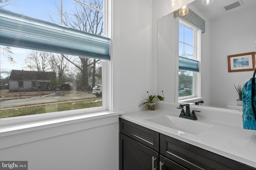
<path id="1" fill-rule="evenodd" d="M 119 169 L 159 170 L 159 133 L 119 120 Z"/>

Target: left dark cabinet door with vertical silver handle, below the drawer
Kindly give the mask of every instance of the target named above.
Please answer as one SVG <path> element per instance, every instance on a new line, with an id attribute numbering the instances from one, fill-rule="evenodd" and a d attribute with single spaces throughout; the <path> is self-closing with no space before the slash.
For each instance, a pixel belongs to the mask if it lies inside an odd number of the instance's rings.
<path id="1" fill-rule="evenodd" d="M 119 133 L 119 170 L 158 170 L 158 153 Z"/>

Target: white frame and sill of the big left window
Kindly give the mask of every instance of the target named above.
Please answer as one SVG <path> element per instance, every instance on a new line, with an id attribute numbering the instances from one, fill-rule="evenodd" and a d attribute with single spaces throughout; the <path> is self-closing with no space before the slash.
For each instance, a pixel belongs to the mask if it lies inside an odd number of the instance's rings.
<path id="1" fill-rule="evenodd" d="M 112 37 L 112 1 L 104 1 L 104 36 Z M 110 40 L 110 43 L 112 41 Z M 111 46 L 110 46 L 111 47 Z M 111 56 L 110 50 L 110 56 Z M 42 125 L 49 125 L 53 123 L 61 123 L 64 121 L 74 120 L 74 119 L 84 119 L 84 116 L 90 115 L 89 117 L 96 117 L 99 114 L 106 112 L 111 113 L 112 111 L 112 61 L 102 60 L 102 106 L 85 108 L 85 109 L 75 109 L 68 111 L 59 111 L 52 113 L 42 113 L 34 115 L 25 115 L 17 117 L 8 117 L 0 119 L 0 133 L 8 132 L 13 130 L 27 129 L 29 127 L 38 127 Z M 69 118 L 68 118 L 69 117 Z M 74 118 L 76 117 L 76 118 Z M 92 118 L 93 119 L 93 118 Z M 40 123 L 38 123 L 40 122 Z"/>

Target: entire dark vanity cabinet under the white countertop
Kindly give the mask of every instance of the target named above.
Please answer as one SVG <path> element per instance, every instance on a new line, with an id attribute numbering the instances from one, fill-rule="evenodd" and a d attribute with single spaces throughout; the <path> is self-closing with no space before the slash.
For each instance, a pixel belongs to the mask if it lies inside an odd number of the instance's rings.
<path id="1" fill-rule="evenodd" d="M 121 118 L 119 125 L 119 170 L 256 170 Z"/>

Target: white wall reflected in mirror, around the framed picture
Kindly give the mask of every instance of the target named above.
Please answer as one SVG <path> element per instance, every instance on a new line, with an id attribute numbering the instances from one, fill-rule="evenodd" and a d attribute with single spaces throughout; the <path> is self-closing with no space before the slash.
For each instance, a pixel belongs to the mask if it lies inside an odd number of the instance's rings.
<path id="1" fill-rule="evenodd" d="M 253 71 L 228 72 L 228 55 L 256 51 L 255 6 L 211 21 L 211 102 L 213 106 L 236 105 L 235 85 L 243 85 Z"/>

